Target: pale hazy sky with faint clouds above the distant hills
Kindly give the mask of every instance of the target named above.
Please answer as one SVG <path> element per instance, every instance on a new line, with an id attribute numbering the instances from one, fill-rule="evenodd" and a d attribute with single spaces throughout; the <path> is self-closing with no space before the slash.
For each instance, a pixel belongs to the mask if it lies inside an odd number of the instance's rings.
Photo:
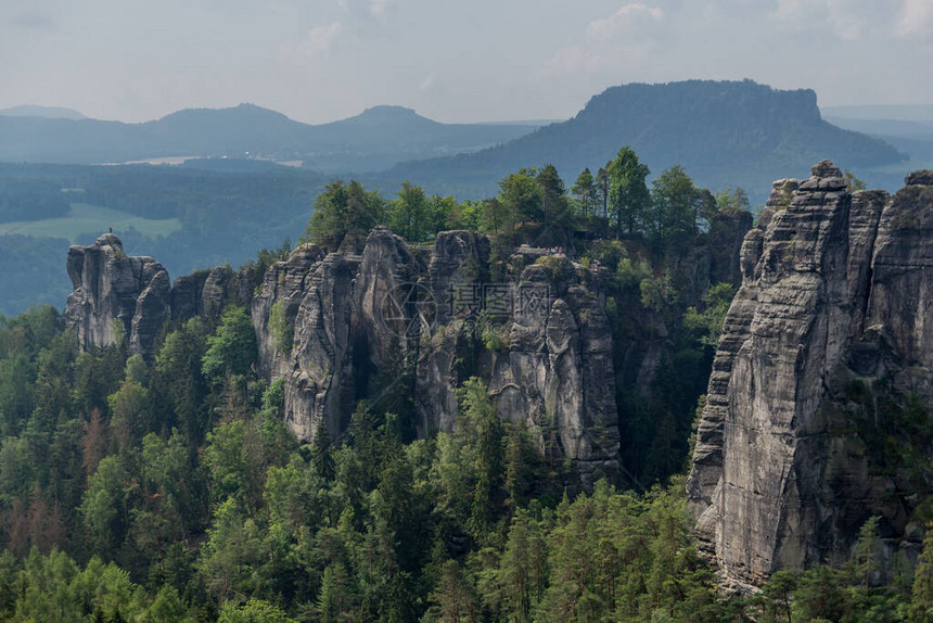
<path id="1" fill-rule="evenodd" d="M 560 119 L 626 82 L 933 103 L 933 0 L 0 0 L 0 109 Z"/>

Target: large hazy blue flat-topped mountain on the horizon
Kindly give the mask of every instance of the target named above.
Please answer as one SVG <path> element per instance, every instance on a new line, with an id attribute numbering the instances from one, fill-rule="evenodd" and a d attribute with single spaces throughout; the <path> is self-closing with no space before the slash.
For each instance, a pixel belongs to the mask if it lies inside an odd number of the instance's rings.
<path id="1" fill-rule="evenodd" d="M 570 120 L 478 153 L 405 163 L 385 177 L 483 196 L 507 174 L 548 162 L 572 183 L 584 167 L 595 171 L 624 145 L 653 174 L 680 164 L 703 186 L 742 186 L 758 199 L 775 178 L 807 175 L 823 157 L 856 171 L 905 160 L 879 139 L 823 120 L 811 90 L 689 80 L 613 87 Z"/>

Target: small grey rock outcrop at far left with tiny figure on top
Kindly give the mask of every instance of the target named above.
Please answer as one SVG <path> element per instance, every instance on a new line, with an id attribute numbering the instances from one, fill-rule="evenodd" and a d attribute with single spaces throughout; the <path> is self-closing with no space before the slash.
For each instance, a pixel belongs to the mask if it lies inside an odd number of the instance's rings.
<path id="1" fill-rule="evenodd" d="M 101 236 L 89 246 L 68 250 L 65 321 L 84 348 L 115 343 L 123 332 L 131 353 L 146 358 L 170 317 L 168 272 L 152 257 L 129 257 L 119 238 Z"/>

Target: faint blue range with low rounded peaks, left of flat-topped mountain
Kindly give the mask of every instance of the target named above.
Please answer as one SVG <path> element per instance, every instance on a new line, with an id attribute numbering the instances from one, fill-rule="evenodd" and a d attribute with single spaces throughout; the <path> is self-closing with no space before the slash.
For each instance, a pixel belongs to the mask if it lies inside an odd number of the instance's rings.
<path id="1" fill-rule="evenodd" d="M 30 110 L 37 114 L 29 115 Z M 527 123 L 442 124 L 400 106 L 375 106 L 317 126 L 252 104 L 188 109 L 142 124 L 53 115 L 48 109 L 33 106 L 13 111 L 0 114 L 0 162 L 101 164 L 227 157 L 303 163 L 323 173 L 362 173 L 402 161 L 476 151 L 536 127 Z"/>

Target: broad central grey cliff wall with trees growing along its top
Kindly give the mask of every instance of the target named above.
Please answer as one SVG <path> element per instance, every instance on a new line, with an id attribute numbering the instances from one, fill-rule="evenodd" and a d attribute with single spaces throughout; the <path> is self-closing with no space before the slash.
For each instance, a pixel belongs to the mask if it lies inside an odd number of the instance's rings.
<path id="1" fill-rule="evenodd" d="M 533 265 L 490 283 L 489 240 L 475 232 L 443 232 L 424 256 L 385 228 L 358 256 L 305 245 L 253 300 L 261 372 L 285 379 L 286 421 L 304 440 L 321 425 L 342 434 L 359 389 L 389 358 L 413 360 L 421 435 L 455 429 L 455 390 L 478 376 L 503 418 L 588 484 L 617 468 L 612 338 L 585 270 L 554 259 L 559 275 Z M 294 331 L 287 352 L 269 328 L 273 306 Z M 500 343 L 485 347 L 484 331 Z"/>

